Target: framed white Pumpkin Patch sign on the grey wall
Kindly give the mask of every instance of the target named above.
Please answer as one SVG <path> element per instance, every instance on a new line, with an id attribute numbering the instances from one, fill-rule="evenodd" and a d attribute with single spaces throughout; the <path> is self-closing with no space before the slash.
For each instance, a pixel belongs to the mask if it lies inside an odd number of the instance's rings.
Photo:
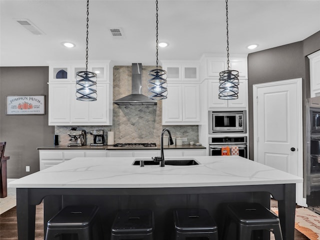
<path id="1" fill-rule="evenodd" d="M 45 95 L 6 96 L 7 115 L 45 114 Z"/>

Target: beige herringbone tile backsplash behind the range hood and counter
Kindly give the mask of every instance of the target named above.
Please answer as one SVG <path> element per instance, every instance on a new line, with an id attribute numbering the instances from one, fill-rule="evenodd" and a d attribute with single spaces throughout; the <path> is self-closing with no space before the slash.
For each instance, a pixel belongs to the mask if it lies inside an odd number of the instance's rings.
<path id="1" fill-rule="evenodd" d="M 148 72 L 155 66 L 142 65 L 142 93 L 147 95 Z M 113 100 L 131 93 L 131 65 L 113 67 Z M 90 130 L 104 130 L 105 139 L 107 131 L 114 132 L 114 143 L 116 142 L 155 142 L 160 144 L 162 128 L 168 128 L 174 137 L 186 137 L 190 141 L 198 141 L 197 125 L 165 125 L 162 126 L 162 103 L 157 105 L 116 105 L 113 104 L 112 126 L 77 126 L 78 129 L 86 131 L 86 144 L 93 142 Z M 67 131 L 70 126 L 55 126 L 55 134 L 59 137 L 59 145 L 69 142 Z"/>

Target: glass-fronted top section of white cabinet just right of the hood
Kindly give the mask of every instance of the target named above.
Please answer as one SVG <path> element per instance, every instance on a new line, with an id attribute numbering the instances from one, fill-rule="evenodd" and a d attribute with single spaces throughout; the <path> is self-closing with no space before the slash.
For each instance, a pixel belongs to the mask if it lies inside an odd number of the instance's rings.
<path id="1" fill-rule="evenodd" d="M 163 61 L 162 69 L 166 70 L 168 82 L 197 82 L 199 77 L 198 62 Z"/>

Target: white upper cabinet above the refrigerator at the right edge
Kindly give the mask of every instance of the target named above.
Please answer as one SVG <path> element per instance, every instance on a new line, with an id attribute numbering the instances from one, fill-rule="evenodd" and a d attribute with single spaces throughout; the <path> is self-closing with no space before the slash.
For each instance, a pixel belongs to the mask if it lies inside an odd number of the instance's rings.
<path id="1" fill-rule="evenodd" d="M 310 59 L 310 97 L 320 96 L 320 50 L 308 55 Z"/>

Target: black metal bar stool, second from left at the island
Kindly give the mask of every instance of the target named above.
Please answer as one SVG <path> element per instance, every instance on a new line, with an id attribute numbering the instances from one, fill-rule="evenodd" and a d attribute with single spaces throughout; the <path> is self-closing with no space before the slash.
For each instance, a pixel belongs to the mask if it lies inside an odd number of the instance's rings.
<path id="1" fill-rule="evenodd" d="M 153 212 L 148 209 L 119 210 L 111 228 L 111 240 L 152 240 L 154 230 Z"/>

